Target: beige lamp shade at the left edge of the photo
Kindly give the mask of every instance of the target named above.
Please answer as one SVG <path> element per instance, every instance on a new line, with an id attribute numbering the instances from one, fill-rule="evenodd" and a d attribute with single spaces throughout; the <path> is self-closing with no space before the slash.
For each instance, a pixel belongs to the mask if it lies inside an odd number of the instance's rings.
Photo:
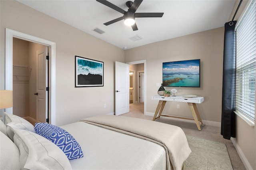
<path id="1" fill-rule="evenodd" d="M 0 109 L 12 107 L 12 90 L 0 90 Z"/>

